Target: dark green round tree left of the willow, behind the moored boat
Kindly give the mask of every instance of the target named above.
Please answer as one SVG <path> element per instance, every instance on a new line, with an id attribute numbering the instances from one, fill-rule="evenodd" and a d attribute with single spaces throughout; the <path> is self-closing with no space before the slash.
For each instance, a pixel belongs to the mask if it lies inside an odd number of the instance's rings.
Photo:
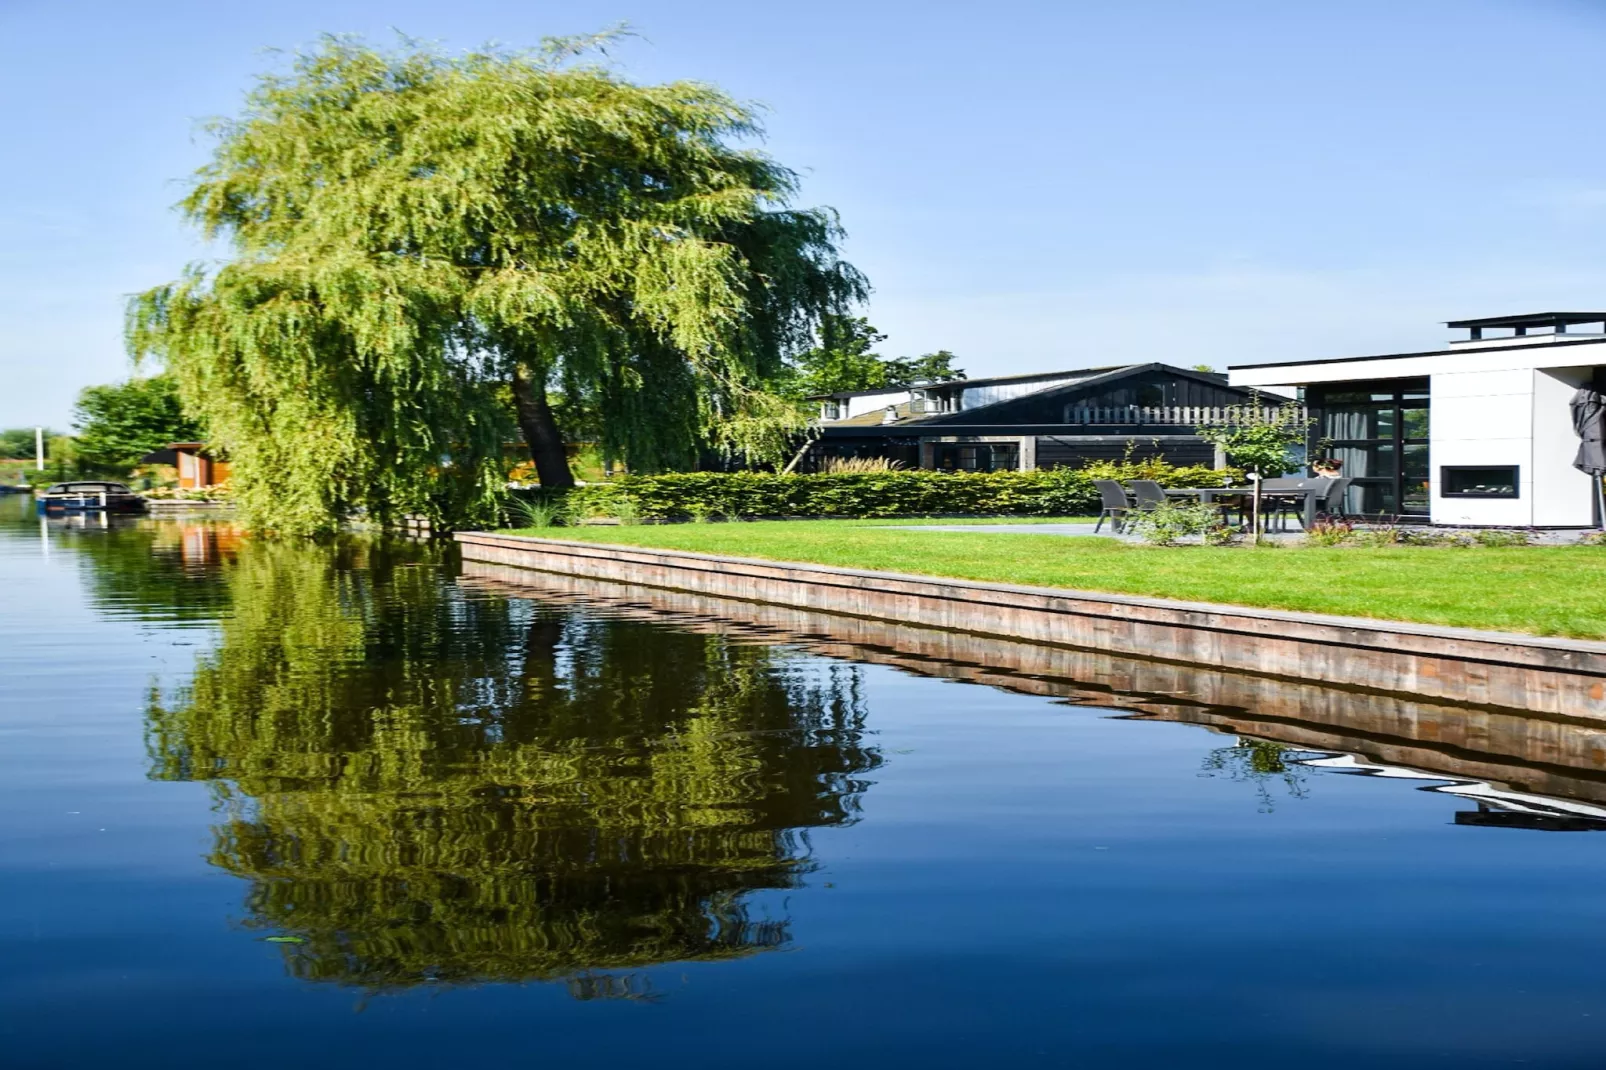
<path id="1" fill-rule="evenodd" d="M 201 424 L 185 415 L 178 384 L 167 374 L 85 387 L 74 424 L 80 464 L 104 472 L 125 472 L 151 450 L 202 437 Z"/>

